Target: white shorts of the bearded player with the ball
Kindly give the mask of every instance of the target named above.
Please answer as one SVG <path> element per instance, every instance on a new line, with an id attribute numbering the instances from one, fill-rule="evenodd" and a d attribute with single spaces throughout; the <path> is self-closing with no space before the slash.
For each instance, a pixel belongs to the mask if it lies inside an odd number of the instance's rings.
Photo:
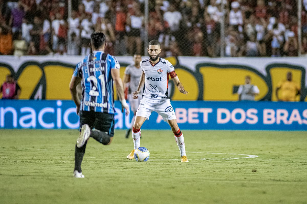
<path id="1" fill-rule="evenodd" d="M 164 121 L 176 119 L 175 111 L 169 99 L 163 101 L 151 101 L 143 98 L 138 106 L 136 116 L 146 117 L 147 120 L 149 120 L 151 112 L 153 111 L 161 115 Z"/>

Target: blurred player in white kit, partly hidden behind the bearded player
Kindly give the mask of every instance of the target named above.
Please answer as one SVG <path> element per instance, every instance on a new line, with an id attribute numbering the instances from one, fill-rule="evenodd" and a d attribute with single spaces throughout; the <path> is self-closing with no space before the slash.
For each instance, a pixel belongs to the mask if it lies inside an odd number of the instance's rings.
<path id="1" fill-rule="evenodd" d="M 134 114 L 133 118 L 131 120 L 132 126 L 133 126 L 133 123 L 134 123 L 136 111 L 137 111 L 138 106 L 140 105 L 140 101 L 142 99 L 141 93 L 138 94 L 137 99 L 133 99 L 132 98 L 133 96 L 131 94 L 132 91 L 135 91 L 135 90 L 138 89 L 138 83 L 140 81 L 140 77 L 141 77 L 141 74 L 142 74 L 142 69 L 141 69 L 141 66 L 140 66 L 140 62 L 142 61 L 141 54 L 134 54 L 133 61 L 134 61 L 133 64 L 128 65 L 126 67 L 125 76 L 124 76 L 124 80 L 123 80 L 124 90 L 125 90 L 125 98 L 128 99 L 131 111 Z M 129 128 L 126 131 L 126 138 L 129 137 L 131 129 L 132 129 L 132 127 Z"/>

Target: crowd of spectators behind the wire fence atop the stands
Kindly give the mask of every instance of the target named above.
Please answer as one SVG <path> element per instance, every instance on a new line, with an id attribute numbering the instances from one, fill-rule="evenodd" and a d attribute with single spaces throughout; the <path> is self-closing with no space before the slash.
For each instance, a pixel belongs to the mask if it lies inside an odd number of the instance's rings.
<path id="1" fill-rule="evenodd" d="M 302 6 L 306 54 L 307 0 Z M 72 0 L 67 11 L 67 0 L 1 0 L 0 54 L 85 55 L 94 31 L 107 35 L 107 53 L 144 54 L 144 0 Z M 220 43 L 227 57 L 297 56 L 297 0 L 149 1 L 148 38 L 161 42 L 162 57 L 219 57 Z"/>

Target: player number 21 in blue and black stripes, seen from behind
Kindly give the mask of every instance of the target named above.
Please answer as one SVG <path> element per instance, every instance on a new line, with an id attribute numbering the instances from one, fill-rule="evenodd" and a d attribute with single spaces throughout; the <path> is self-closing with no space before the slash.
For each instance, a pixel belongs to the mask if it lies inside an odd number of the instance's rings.
<path id="1" fill-rule="evenodd" d="M 122 111 L 129 107 L 124 98 L 122 79 L 119 75 L 120 65 L 115 57 L 105 54 L 106 37 L 102 32 L 91 34 L 93 52 L 84 57 L 73 73 L 69 84 L 72 98 L 80 116 L 80 136 L 75 148 L 75 169 L 73 176 L 84 178 L 81 162 L 89 137 L 107 145 L 114 135 L 114 92 L 113 81 L 122 103 Z M 77 93 L 77 85 L 82 80 L 82 100 Z"/>

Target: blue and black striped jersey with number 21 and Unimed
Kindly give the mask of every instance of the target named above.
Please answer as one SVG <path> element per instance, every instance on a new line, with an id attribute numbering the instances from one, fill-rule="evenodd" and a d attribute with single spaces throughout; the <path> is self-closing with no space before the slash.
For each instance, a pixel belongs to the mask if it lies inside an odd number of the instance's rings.
<path id="1" fill-rule="evenodd" d="M 80 110 L 115 113 L 111 69 L 119 69 L 115 57 L 94 51 L 78 63 L 73 76 L 82 78 Z"/>

